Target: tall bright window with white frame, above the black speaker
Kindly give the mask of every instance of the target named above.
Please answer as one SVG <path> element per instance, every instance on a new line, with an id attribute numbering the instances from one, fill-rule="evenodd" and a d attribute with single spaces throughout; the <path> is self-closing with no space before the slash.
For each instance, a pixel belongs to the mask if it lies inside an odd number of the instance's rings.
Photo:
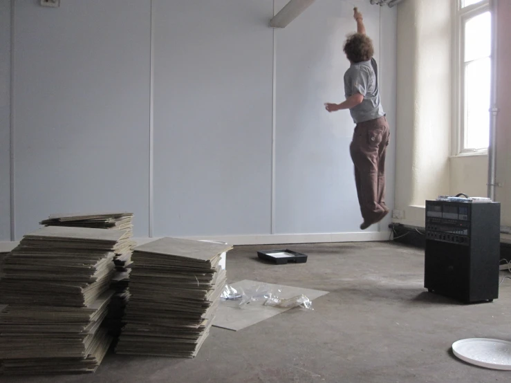
<path id="1" fill-rule="evenodd" d="M 490 0 L 460 0 L 454 68 L 456 154 L 485 153 L 490 139 L 492 15 Z"/>

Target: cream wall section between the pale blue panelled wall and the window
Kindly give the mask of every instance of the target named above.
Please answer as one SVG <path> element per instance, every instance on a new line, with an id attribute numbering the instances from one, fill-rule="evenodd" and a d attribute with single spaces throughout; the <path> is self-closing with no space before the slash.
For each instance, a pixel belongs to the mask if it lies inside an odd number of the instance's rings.
<path id="1" fill-rule="evenodd" d="M 451 3 L 398 7 L 396 209 L 424 225 L 425 200 L 449 193 Z"/>

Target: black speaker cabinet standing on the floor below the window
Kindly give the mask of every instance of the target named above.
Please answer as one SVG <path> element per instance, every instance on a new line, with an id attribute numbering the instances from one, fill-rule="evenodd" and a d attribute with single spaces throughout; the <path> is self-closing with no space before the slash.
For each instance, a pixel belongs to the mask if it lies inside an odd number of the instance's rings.
<path id="1" fill-rule="evenodd" d="M 424 286 L 464 303 L 499 297 L 500 203 L 426 201 Z"/>

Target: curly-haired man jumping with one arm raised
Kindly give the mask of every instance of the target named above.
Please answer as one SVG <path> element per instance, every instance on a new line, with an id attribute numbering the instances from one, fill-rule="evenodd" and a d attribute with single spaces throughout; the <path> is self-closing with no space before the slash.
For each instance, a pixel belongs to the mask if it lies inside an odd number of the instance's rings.
<path id="1" fill-rule="evenodd" d="M 350 153 L 355 165 L 358 203 L 364 218 L 360 229 L 365 230 L 389 213 L 384 202 L 389 124 L 380 102 L 373 41 L 366 35 L 362 13 L 357 8 L 353 17 L 357 21 L 357 33 L 349 35 L 344 43 L 344 53 L 351 64 L 344 73 L 346 101 L 325 106 L 329 112 L 349 109 L 356 124 Z"/>

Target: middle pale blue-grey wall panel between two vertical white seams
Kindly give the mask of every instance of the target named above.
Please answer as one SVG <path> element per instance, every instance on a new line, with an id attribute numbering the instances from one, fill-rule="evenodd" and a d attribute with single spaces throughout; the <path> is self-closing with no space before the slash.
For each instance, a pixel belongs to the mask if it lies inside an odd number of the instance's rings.
<path id="1" fill-rule="evenodd" d="M 272 0 L 156 0 L 154 234 L 270 232 Z"/>

